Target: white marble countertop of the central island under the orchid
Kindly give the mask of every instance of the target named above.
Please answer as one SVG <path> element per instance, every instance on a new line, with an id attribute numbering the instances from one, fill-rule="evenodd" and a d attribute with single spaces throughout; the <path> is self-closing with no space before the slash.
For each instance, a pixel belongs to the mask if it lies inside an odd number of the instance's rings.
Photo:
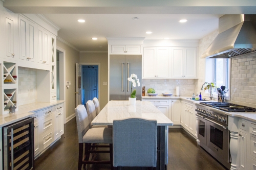
<path id="1" fill-rule="evenodd" d="M 173 122 L 159 111 L 151 102 L 110 101 L 93 119 L 92 125 L 113 125 L 113 120 L 129 117 L 156 119 L 158 126 L 173 126 Z"/>

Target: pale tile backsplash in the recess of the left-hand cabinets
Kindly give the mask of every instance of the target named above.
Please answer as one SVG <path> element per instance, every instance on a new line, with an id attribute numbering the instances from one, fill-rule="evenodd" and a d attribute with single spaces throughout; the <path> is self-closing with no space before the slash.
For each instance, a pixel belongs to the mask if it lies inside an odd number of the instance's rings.
<path id="1" fill-rule="evenodd" d="M 36 102 L 36 69 L 18 67 L 18 106 Z"/>

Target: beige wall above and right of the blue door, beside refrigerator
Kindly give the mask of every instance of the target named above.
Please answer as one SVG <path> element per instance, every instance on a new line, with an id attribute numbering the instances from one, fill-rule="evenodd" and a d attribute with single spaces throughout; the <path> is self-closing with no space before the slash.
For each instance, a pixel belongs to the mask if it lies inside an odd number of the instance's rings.
<path id="1" fill-rule="evenodd" d="M 108 103 L 108 53 L 80 53 L 80 63 L 100 63 L 100 107 Z"/>

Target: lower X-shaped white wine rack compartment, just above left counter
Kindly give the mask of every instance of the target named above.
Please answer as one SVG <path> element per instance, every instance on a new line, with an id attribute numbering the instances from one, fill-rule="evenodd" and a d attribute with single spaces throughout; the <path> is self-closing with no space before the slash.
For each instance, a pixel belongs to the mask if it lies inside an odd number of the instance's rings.
<path id="1" fill-rule="evenodd" d="M 9 113 L 9 107 L 17 106 L 16 89 L 4 89 L 4 112 Z"/>

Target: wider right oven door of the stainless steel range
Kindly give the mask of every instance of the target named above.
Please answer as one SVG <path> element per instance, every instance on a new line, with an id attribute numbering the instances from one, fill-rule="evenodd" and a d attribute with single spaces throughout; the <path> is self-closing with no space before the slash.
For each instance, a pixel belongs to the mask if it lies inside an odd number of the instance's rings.
<path id="1" fill-rule="evenodd" d="M 207 147 L 218 155 L 217 160 L 229 158 L 229 131 L 222 126 L 207 121 Z M 224 164 L 224 163 L 223 163 Z"/>

